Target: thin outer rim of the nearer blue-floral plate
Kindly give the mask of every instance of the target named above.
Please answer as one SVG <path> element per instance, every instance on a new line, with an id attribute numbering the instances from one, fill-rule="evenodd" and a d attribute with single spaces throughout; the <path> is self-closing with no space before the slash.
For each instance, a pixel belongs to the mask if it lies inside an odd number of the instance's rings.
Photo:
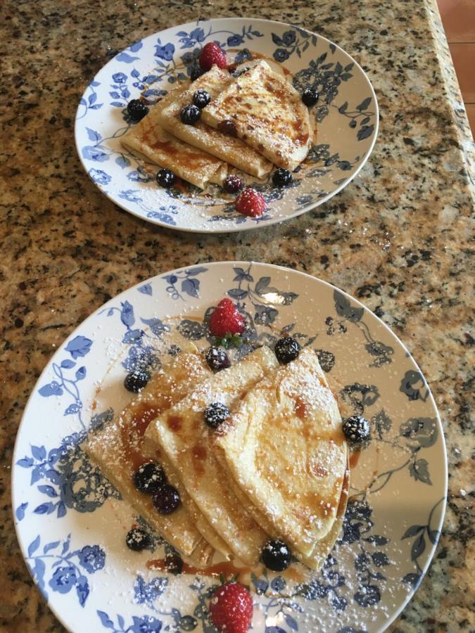
<path id="1" fill-rule="evenodd" d="M 23 414 L 21 416 L 20 419 L 20 424 L 18 425 L 18 430 L 16 432 L 15 435 L 15 443 L 13 445 L 13 452 L 12 452 L 12 461 L 11 461 L 11 485 L 10 485 L 10 490 L 11 490 L 11 515 L 13 518 L 13 525 L 15 526 L 15 535 L 18 541 L 18 546 L 20 547 L 20 552 L 21 555 L 23 557 L 23 562 L 25 563 L 25 567 L 28 570 L 28 573 L 30 573 L 30 577 L 32 578 L 34 587 L 36 587 L 37 591 L 39 592 L 39 594 L 42 596 L 42 599 L 45 600 L 44 594 L 42 589 L 38 586 L 37 582 L 34 580 L 33 574 L 32 574 L 32 570 L 30 568 L 30 565 L 28 565 L 27 563 L 27 549 L 26 549 L 26 544 L 23 544 L 23 539 L 22 536 L 20 535 L 20 521 L 17 520 L 16 516 L 15 516 L 15 472 L 17 470 L 16 467 L 16 461 L 17 461 L 17 452 L 18 452 L 18 447 L 19 447 L 19 440 L 20 440 L 20 431 L 22 429 L 23 424 L 25 423 L 25 419 L 27 418 L 27 414 L 28 411 L 32 405 L 32 399 L 34 397 L 34 395 L 37 392 L 37 385 L 39 385 L 40 381 L 42 381 L 42 378 L 44 376 L 44 373 L 46 373 L 47 369 L 49 368 L 49 366 L 51 365 L 51 363 L 54 361 L 54 359 L 56 359 L 56 357 L 59 357 L 60 354 L 63 352 L 63 347 L 65 345 L 65 343 L 67 343 L 68 340 L 70 340 L 70 338 L 73 338 L 74 335 L 76 335 L 77 333 L 79 333 L 80 328 L 82 328 L 82 326 L 84 326 L 84 324 L 88 323 L 89 321 L 92 321 L 94 318 L 96 318 L 96 316 L 99 314 L 99 312 L 103 309 L 106 309 L 106 307 L 108 307 L 108 305 L 112 304 L 112 302 L 116 302 L 117 300 L 120 300 L 120 298 L 122 298 L 124 295 L 128 294 L 131 290 L 137 289 L 140 286 L 144 286 L 147 283 L 151 283 L 152 281 L 160 278 L 162 279 L 163 276 L 167 275 L 167 274 L 174 274 L 180 271 L 183 271 L 185 269 L 189 269 L 190 267 L 194 266 L 194 265 L 199 265 L 201 262 L 198 262 L 196 264 L 190 264 L 187 266 L 182 266 L 179 268 L 175 268 L 172 270 L 167 270 L 167 271 L 163 271 L 160 273 L 157 273 L 156 275 L 153 275 L 151 277 L 149 277 L 148 279 L 143 279 L 141 281 L 139 281 L 138 283 L 135 283 L 133 286 L 129 286 L 129 288 L 126 288 L 125 290 L 122 290 L 121 293 L 118 293 L 117 295 L 113 296 L 112 298 L 110 298 L 107 302 L 103 303 L 101 306 L 97 307 L 96 309 L 94 309 L 94 312 L 91 312 L 91 314 L 89 314 L 89 316 L 86 317 L 86 319 L 84 319 L 83 321 L 81 321 L 80 324 L 78 324 L 74 330 L 72 330 L 72 332 L 64 338 L 64 340 L 60 343 L 60 345 L 58 345 L 56 352 L 54 352 L 54 354 L 48 359 L 48 361 L 46 362 L 42 372 L 40 373 L 39 377 L 37 378 L 37 381 L 34 383 L 34 386 L 32 388 L 32 391 L 30 392 L 30 395 L 27 399 L 27 402 L 25 404 L 25 408 L 23 409 Z M 384 624 L 382 625 L 382 627 L 380 627 L 379 629 L 377 629 L 376 633 L 383 633 L 384 631 L 386 631 L 386 629 L 388 629 L 388 627 L 394 622 L 394 620 L 396 618 L 398 618 L 398 616 L 403 613 L 403 610 L 407 607 L 407 604 L 410 603 L 410 601 L 412 600 L 412 598 L 414 597 L 414 595 L 416 594 L 417 590 L 419 589 L 420 585 L 422 584 L 422 581 L 424 580 L 424 577 L 426 576 L 427 571 L 429 570 L 429 566 L 431 565 L 432 561 L 433 561 L 433 556 L 436 552 L 437 546 L 438 546 L 438 542 L 439 539 L 441 537 L 442 534 L 442 528 L 443 528 L 443 523 L 445 520 L 445 511 L 447 509 L 447 501 L 448 501 L 448 455 L 447 455 L 447 445 L 445 443 L 445 434 L 443 432 L 443 424 L 441 421 L 441 416 L 439 414 L 438 411 L 438 407 L 436 404 L 436 401 L 432 395 L 432 391 L 430 388 L 429 383 L 427 383 L 424 373 L 421 371 L 421 369 L 419 368 L 419 365 L 417 364 L 417 362 L 415 361 L 414 357 L 412 356 L 412 354 L 409 352 L 409 350 L 407 350 L 407 347 L 404 345 L 404 343 L 400 340 L 400 338 L 398 337 L 397 334 L 395 334 L 393 332 L 393 330 L 386 324 L 384 323 L 384 321 L 377 316 L 376 314 L 374 314 L 374 312 L 372 312 L 371 309 L 369 309 L 369 307 L 367 307 L 365 304 L 363 304 L 362 302 L 360 302 L 359 300 L 355 299 L 352 295 L 346 293 L 345 290 L 342 290 L 341 288 L 338 288 L 338 286 L 335 286 L 333 283 L 330 283 L 329 281 L 325 281 L 324 279 L 320 279 L 319 277 L 309 274 L 307 272 L 303 272 L 300 270 L 296 270 L 293 268 L 288 268 L 285 266 L 280 266 L 277 264 L 269 264 L 267 262 L 259 262 L 259 261 L 255 261 L 255 260 L 223 260 L 223 261 L 219 261 L 219 262 L 203 262 L 203 265 L 207 266 L 207 267 L 216 267 L 219 268 L 220 266 L 226 266 L 226 267 L 234 267 L 234 266 L 248 266 L 249 264 L 251 265 L 258 265 L 258 266 L 264 266 L 266 268 L 271 268 L 271 269 L 276 269 L 279 271 L 285 271 L 287 274 L 296 274 L 298 276 L 303 276 L 305 278 L 310 278 L 311 282 L 312 281 L 317 281 L 319 283 L 322 283 L 324 286 L 327 286 L 327 288 L 331 289 L 331 290 L 338 290 L 339 293 L 342 293 L 346 298 L 350 299 L 352 302 L 354 302 L 355 304 L 357 304 L 358 307 L 362 307 L 365 312 L 369 312 L 372 317 L 374 317 L 374 319 L 376 319 L 376 321 L 381 324 L 382 326 L 384 326 L 384 328 L 386 328 L 386 331 L 388 331 L 388 333 L 390 333 L 395 340 L 399 343 L 399 345 L 401 345 L 401 347 L 403 348 L 403 350 L 406 352 L 407 357 L 409 357 L 411 359 L 411 361 L 414 363 L 414 365 L 416 366 L 417 370 L 419 371 L 419 373 L 421 373 L 421 375 L 424 378 L 424 382 L 426 384 L 426 388 L 428 390 L 429 393 L 429 402 L 431 403 L 431 406 L 433 407 L 433 410 L 435 411 L 436 414 L 436 420 L 438 423 L 438 430 L 440 431 L 439 436 L 441 438 L 441 442 L 442 442 L 442 446 L 441 448 L 443 449 L 443 463 L 442 463 L 442 468 L 443 468 L 443 482 L 444 482 L 444 491 L 443 491 L 443 504 L 442 504 L 442 508 L 441 508 L 441 512 L 440 512 L 440 518 L 438 520 L 438 524 L 436 526 L 437 530 L 438 530 L 438 536 L 436 539 L 435 543 L 431 543 L 431 549 L 429 556 L 426 559 L 426 562 L 424 563 L 424 566 L 422 568 L 422 573 L 421 573 L 421 577 L 420 580 L 417 584 L 416 589 L 412 589 L 410 592 L 407 592 L 407 596 L 405 596 L 405 599 L 400 603 L 400 606 L 398 607 L 397 610 L 395 610 L 395 613 L 393 613 L 393 615 L 391 615 L 390 618 L 388 618 L 388 620 L 386 620 L 386 622 L 384 622 Z M 310 283 L 311 283 L 310 282 Z M 439 501 L 440 503 L 440 501 Z M 65 620 L 63 620 L 63 618 L 61 617 L 61 615 L 59 615 L 59 613 L 57 612 L 56 608 L 54 608 L 53 603 L 51 603 L 50 601 L 46 601 L 46 606 L 51 610 L 51 612 L 53 613 L 53 615 L 55 616 L 55 618 L 61 622 L 61 624 L 68 629 L 68 631 L 74 632 L 75 629 L 70 629 L 70 626 L 67 622 L 65 622 Z"/>

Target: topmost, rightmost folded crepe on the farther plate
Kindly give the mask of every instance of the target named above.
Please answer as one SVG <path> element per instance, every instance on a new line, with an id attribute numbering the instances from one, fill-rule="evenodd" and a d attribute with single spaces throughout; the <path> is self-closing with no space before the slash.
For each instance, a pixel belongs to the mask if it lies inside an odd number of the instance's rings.
<path id="1" fill-rule="evenodd" d="M 264 60 L 243 72 L 203 108 L 201 119 L 219 129 L 232 121 L 239 139 L 274 165 L 294 170 L 304 160 L 313 124 L 300 94 Z"/>

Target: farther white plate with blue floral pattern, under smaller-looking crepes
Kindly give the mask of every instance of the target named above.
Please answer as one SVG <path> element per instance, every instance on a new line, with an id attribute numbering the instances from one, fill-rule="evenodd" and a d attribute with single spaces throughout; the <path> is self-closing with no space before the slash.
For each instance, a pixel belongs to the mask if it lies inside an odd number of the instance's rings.
<path id="1" fill-rule="evenodd" d="M 204 44 L 219 41 L 227 51 L 260 53 L 282 63 L 302 91 L 320 94 L 315 115 L 317 145 L 294 186 L 260 188 L 267 200 L 258 218 L 240 215 L 220 187 L 203 196 L 158 187 L 120 144 L 131 123 L 127 103 L 144 94 L 151 103 L 166 94 L 196 64 Z M 369 79 L 355 60 L 318 34 L 269 20 L 224 18 L 172 27 L 132 44 L 94 77 L 77 109 L 77 151 L 94 183 L 113 202 L 148 222 L 182 231 L 243 231 L 296 217 L 341 191 L 360 171 L 378 132 L 378 105 Z M 154 168 L 156 171 L 157 168 Z"/>

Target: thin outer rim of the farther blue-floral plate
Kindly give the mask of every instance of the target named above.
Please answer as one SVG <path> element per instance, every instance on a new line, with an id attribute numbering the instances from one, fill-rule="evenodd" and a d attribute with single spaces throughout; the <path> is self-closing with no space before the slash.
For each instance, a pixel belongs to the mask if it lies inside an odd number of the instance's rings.
<path id="1" fill-rule="evenodd" d="M 331 193 L 328 193 L 327 196 L 324 196 L 324 198 L 321 198 L 319 200 L 317 200 L 315 203 L 310 203 L 310 205 L 306 205 L 305 207 L 296 210 L 296 212 L 294 212 L 293 214 L 289 215 L 289 217 L 284 217 L 284 218 L 272 218 L 270 220 L 268 220 L 267 222 L 265 222 L 264 224 L 258 224 L 257 222 L 246 222 L 245 224 L 241 225 L 241 224 L 231 224 L 229 227 L 220 227 L 220 226 L 216 226 L 218 223 L 214 223 L 211 222 L 210 223 L 210 230 L 205 231 L 205 230 L 198 230 L 198 229 L 193 229 L 191 227 L 186 227 L 186 226 L 172 226 L 170 224 L 167 224 L 166 222 L 163 222 L 161 220 L 158 220 L 156 218 L 146 218 L 143 215 L 141 215 L 139 212 L 131 210 L 130 208 L 125 206 L 125 203 L 123 203 L 122 201 L 118 201 L 118 200 L 114 200 L 113 198 L 110 197 L 110 195 L 108 193 L 106 193 L 106 191 L 104 191 L 103 187 L 101 186 L 101 184 L 94 182 L 94 180 L 92 179 L 92 177 L 89 175 L 89 168 L 86 165 L 86 163 L 84 162 L 86 159 L 82 156 L 82 153 L 80 151 L 80 145 L 79 145 L 79 129 L 80 129 L 80 125 L 78 124 L 78 121 L 80 119 L 78 119 L 78 113 L 80 110 L 80 103 L 78 103 L 77 108 L 76 108 L 76 113 L 75 113 L 75 128 L 74 128 L 74 136 L 75 136 L 75 148 L 76 148 L 76 152 L 77 155 L 80 159 L 82 168 L 84 169 L 84 172 L 86 172 L 87 177 L 89 178 L 89 180 L 91 180 L 91 182 L 94 184 L 94 186 L 96 186 L 96 188 L 99 189 L 99 191 L 101 192 L 101 194 L 103 196 L 106 196 L 106 198 L 108 198 L 108 200 L 110 200 L 111 203 L 113 203 L 114 205 L 117 205 L 118 207 L 120 207 L 122 210 L 124 210 L 125 212 L 129 213 L 130 215 L 133 215 L 134 217 L 138 217 L 139 219 L 141 219 L 143 222 L 147 222 L 149 224 L 154 224 L 156 226 L 161 226 L 165 229 L 169 229 L 170 231 L 182 231 L 184 233 L 196 233 L 196 234 L 227 234 L 227 233 L 238 233 L 240 231 L 254 231 L 256 229 L 261 229 L 264 228 L 265 226 L 272 226 L 274 224 L 281 224 L 282 222 L 287 222 L 288 220 L 294 219 L 300 215 L 303 215 L 304 213 L 307 213 L 309 211 L 311 211 L 312 209 L 315 209 L 317 207 L 319 207 L 320 205 L 328 202 L 328 200 L 330 200 L 331 198 L 333 198 L 334 196 L 336 196 L 337 193 L 340 193 L 340 191 L 345 188 L 348 184 L 350 184 L 351 181 L 353 181 L 353 179 L 355 179 L 355 177 L 357 177 L 357 175 L 360 173 L 360 171 L 362 170 L 362 168 L 366 165 L 367 161 L 369 160 L 369 157 L 372 155 L 372 151 L 374 150 L 374 145 L 376 143 L 376 139 L 378 138 L 379 135 L 379 103 L 378 103 L 378 99 L 376 96 L 376 91 L 374 90 L 373 84 L 370 81 L 367 72 L 365 72 L 365 70 L 363 70 L 363 68 L 361 67 L 361 65 L 357 62 L 357 60 L 355 60 L 355 58 L 350 55 L 350 53 L 347 53 L 345 49 L 343 49 L 341 46 L 339 46 L 338 44 L 335 44 L 334 41 L 331 41 L 331 39 L 328 39 L 327 37 L 324 37 L 324 35 L 319 35 L 318 33 L 316 33 L 315 31 L 311 31 L 310 29 L 307 29 L 305 27 L 300 27 L 298 25 L 295 24 L 291 24 L 291 23 L 286 23 L 286 22 L 281 22 L 280 20 L 265 20 L 264 18 L 246 18 L 246 16 L 242 16 L 242 17 L 236 17 L 233 16 L 231 18 L 229 17 L 222 17 L 222 18 L 207 18 L 204 20 L 197 20 L 196 22 L 187 22 L 184 24 L 179 24 L 179 25 L 172 25 L 170 27 L 167 27 L 166 29 L 162 29 L 160 31 L 156 31 L 153 32 L 149 35 L 146 35 L 144 37 L 142 37 L 141 39 L 137 40 L 137 41 L 143 41 L 144 39 L 148 38 L 148 37 L 156 37 L 159 36 L 160 33 L 163 33 L 164 31 L 167 31 L 169 29 L 179 29 L 180 27 L 187 27 L 189 25 L 198 25 L 201 22 L 213 22 L 213 20 L 229 20 L 229 21 L 234 21 L 234 20 L 252 20 L 253 23 L 265 23 L 265 24 L 278 24 L 279 26 L 284 26 L 284 27 L 291 27 L 291 28 L 295 28 L 295 29 L 301 29 L 304 31 L 307 31 L 308 33 L 311 33 L 312 35 L 315 35 L 316 37 L 318 37 L 319 39 L 322 39 L 323 41 L 327 42 L 327 44 L 331 44 L 332 46 L 335 46 L 336 49 L 338 49 L 339 51 L 343 52 L 346 56 L 348 56 L 350 58 L 350 60 L 355 64 L 355 66 L 360 70 L 360 72 L 362 73 L 363 77 L 365 77 L 365 79 L 367 80 L 367 84 L 369 87 L 369 90 L 371 91 L 371 96 L 374 100 L 374 107 L 375 107 L 375 123 L 374 123 L 374 134 L 372 137 L 372 142 L 369 146 L 369 148 L 367 149 L 367 152 L 365 153 L 364 158 L 362 158 L 362 160 L 360 161 L 360 165 L 357 167 L 357 169 L 355 170 L 355 172 L 349 176 L 343 183 L 339 184 L 336 189 L 334 189 L 334 191 L 331 191 Z M 134 42 L 132 42 L 132 44 L 134 44 Z M 126 47 L 127 48 L 127 47 Z M 108 65 L 111 65 L 114 63 L 115 58 L 120 55 L 120 53 L 122 53 L 123 51 L 125 51 L 125 49 L 121 49 L 120 51 L 118 51 L 118 53 L 110 60 L 108 60 L 108 62 L 106 64 L 104 64 L 103 66 L 101 66 L 101 68 L 99 68 L 99 70 L 96 72 L 96 74 L 94 75 L 94 77 L 92 77 L 92 79 L 90 79 L 89 84 L 91 81 L 94 81 L 97 77 L 97 75 L 99 75 L 100 72 L 102 72 L 103 70 L 105 70 Z M 87 87 L 89 86 L 89 84 L 87 84 Z M 80 96 L 81 98 L 84 98 L 84 95 L 86 94 L 87 91 L 87 87 L 85 87 L 84 91 L 82 91 L 82 94 Z"/>

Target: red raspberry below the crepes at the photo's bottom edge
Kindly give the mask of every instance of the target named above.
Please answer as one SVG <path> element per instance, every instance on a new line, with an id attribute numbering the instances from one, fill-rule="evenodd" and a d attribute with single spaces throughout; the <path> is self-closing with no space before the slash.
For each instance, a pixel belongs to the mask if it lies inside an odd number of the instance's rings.
<path id="1" fill-rule="evenodd" d="M 253 620 L 253 599 L 239 582 L 226 582 L 210 601 L 211 621 L 226 633 L 246 633 Z"/>

